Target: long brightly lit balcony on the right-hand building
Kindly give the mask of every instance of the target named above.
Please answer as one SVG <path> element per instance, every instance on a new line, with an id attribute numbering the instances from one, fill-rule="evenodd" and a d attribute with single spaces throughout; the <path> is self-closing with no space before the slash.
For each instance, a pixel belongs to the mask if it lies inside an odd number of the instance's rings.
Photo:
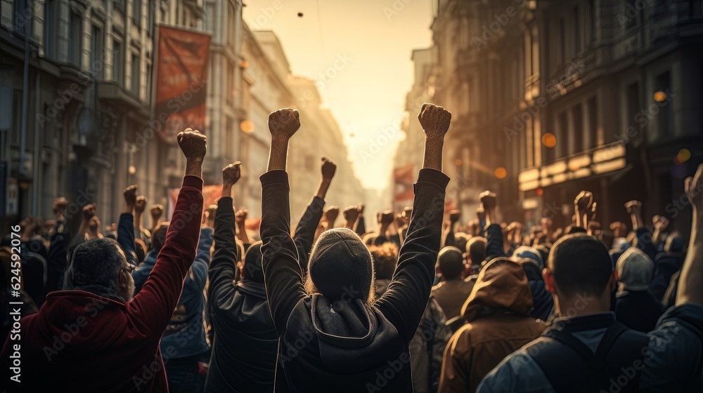
<path id="1" fill-rule="evenodd" d="M 520 191 L 557 185 L 619 171 L 627 166 L 624 141 L 601 145 L 584 152 L 562 157 L 548 164 L 520 171 Z"/>

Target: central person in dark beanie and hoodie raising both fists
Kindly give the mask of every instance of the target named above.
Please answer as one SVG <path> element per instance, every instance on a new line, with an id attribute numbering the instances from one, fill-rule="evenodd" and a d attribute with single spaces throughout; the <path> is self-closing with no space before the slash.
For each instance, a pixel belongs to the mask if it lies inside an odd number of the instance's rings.
<path id="1" fill-rule="evenodd" d="M 288 140 L 297 110 L 269 115 L 271 152 L 262 182 L 262 254 L 266 297 L 279 336 L 276 392 L 412 392 L 408 342 L 434 281 L 444 193 L 441 150 L 451 114 L 423 105 L 425 164 L 393 281 L 373 302 L 368 248 L 347 228 L 324 232 L 309 260 L 307 283 L 290 237 Z M 308 291 L 306 291 L 308 288 Z"/>

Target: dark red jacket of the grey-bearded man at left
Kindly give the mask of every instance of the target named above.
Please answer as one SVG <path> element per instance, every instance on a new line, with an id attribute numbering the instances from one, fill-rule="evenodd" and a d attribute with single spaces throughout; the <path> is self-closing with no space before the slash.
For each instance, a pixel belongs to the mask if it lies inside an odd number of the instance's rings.
<path id="1" fill-rule="evenodd" d="M 142 290 L 126 303 L 85 291 L 47 295 L 20 321 L 19 340 L 11 333 L 5 342 L 0 391 L 168 392 L 159 342 L 195 258 L 201 217 L 202 180 L 186 176 Z M 10 380 L 18 344 L 19 385 Z"/>

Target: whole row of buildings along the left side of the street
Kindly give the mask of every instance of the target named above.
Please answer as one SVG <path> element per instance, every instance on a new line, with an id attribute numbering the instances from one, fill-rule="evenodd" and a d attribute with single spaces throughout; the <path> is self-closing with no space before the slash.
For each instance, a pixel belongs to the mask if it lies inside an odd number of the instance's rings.
<path id="1" fill-rule="evenodd" d="M 314 84 L 290 74 L 272 32 L 252 32 L 244 24 L 243 6 L 241 0 L 1 0 L 3 228 L 27 215 L 50 218 L 51 202 L 60 195 L 70 202 L 69 217 L 79 218 L 82 206 L 96 203 L 109 225 L 122 209 L 122 189 L 131 184 L 149 204 L 167 206 L 169 189 L 180 186 L 183 160 L 177 145 L 155 133 L 157 25 L 212 36 L 206 184 L 219 184 L 229 162 L 245 162 L 237 204 L 258 216 L 258 176 L 268 159 L 267 116 L 280 107 L 304 105 L 316 114 L 302 121 L 315 143 L 305 145 L 304 157 L 292 153 L 289 169 L 302 171 L 311 164 L 310 154 L 328 154 L 347 180 L 330 190 L 340 200 L 334 203 L 361 201 L 364 190 Z M 318 160 L 314 157 L 313 171 L 299 175 L 314 178 L 315 185 Z M 306 194 L 313 193 L 314 186 Z M 304 203 L 293 201 L 295 211 Z"/>

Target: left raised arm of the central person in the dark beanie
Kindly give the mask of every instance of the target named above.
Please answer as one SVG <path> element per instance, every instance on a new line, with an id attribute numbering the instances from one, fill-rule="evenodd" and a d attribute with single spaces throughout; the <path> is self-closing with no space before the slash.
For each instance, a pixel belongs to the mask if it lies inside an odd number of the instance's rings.
<path id="1" fill-rule="evenodd" d="M 269 170 L 261 176 L 262 267 L 271 319 L 279 336 L 293 307 L 305 297 L 298 252 L 290 237 L 290 188 L 285 173 L 288 140 L 299 127 L 297 110 L 285 108 L 269 114 Z"/>

